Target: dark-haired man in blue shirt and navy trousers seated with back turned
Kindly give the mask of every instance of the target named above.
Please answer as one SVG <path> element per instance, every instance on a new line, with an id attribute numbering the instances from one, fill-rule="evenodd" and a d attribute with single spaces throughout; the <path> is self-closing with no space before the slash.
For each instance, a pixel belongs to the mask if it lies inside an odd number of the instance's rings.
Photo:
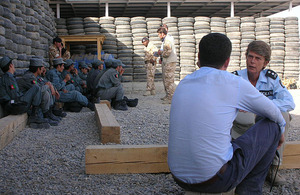
<path id="1" fill-rule="evenodd" d="M 199 43 L 199 70 L 176 88 L 170 111 L 168 165 L 184 189 L 203 193 L 232 190 L 262 194 L 285 121 L 272 101 L 249 82 L 226 71 L 231 42 L 211 33 Z M 265 109 L 265 108 L 268 109 Z M 232 141 L 238 110 L 266 119 Z"/>

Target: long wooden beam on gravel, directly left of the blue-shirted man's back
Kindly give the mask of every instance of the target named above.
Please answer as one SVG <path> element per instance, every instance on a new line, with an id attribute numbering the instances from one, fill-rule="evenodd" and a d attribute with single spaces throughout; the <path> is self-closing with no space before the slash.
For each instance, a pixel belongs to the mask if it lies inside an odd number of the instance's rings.
<path id="1" fill-rule="evenodd" d="M 87 174 L 164 173 L 167 164 L 167 145 L 96 145 L 87 146 Z"/>

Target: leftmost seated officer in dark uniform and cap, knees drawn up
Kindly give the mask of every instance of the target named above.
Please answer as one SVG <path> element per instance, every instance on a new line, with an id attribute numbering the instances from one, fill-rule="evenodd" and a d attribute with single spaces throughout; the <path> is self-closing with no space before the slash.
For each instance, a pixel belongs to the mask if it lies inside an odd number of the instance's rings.
<path id="1" fill-rule="evenodd" d="M 33 85 L 25 93 L 22 93 L 14 77 L 15 66 L 12 59 L 4 56 L 0 59 L 0 67 L 4 72 L 4 75 L 0 79 L 0 103 L 4 107 L 4 110 L 8 114 L 22 114 L 32 107 L 28 123 L 41 124 L 32 127 L 49 128 L 50 125 L 47 120 L 38 114 L 42 100 L 40 87 Z"/>

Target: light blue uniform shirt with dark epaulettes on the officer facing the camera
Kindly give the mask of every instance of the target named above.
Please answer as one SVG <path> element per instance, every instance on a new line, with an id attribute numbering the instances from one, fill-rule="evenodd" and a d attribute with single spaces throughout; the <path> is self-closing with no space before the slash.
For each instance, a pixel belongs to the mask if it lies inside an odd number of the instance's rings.
<path id="1" fill-rule="evenodd" d="M 249 81 L 247 69 L 236 71 L 246 81 Z M 250 82 L 250 81 L 249 81 Z M 277 74 L 269 69 L 260 72 L 255 86 L 262 94 L 268 97 L 282 112 L 288 112 L 295 109 L 293 96 L 282 85 Z"/>

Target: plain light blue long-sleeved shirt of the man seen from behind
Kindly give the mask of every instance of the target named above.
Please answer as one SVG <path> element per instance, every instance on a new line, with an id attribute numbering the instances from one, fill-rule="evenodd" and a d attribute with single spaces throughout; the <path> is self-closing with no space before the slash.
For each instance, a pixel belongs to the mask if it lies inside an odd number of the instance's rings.
<path id="1" fill-rule="evenodd" d="M 210 179 L 233 156 L 230 130 L 238 110 L 279 124 L 280 110 L 249 82 L 227 71 L 202 67 L 176 88 L 170 111 L 168 165 L 186 183 Z"/>

